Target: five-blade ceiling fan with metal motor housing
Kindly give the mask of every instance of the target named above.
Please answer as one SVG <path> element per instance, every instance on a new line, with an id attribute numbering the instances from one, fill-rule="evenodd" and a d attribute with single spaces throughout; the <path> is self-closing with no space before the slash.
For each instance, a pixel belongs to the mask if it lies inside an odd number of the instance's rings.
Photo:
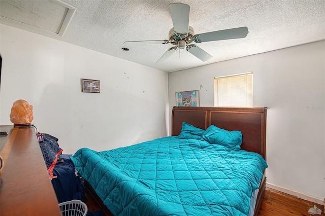
<path id="1" fill-rule="evenodd" d="M 176 50 L 186 49 L 197 58 L 202 61 L 208 61 L 212 56 L 201 49 L 200 47 L 191 44 L 209 42 L 209 41 L 221 41 L 228 39 L 245 38 L 248 34 L 247 27 L 231 28 L 219 31 L 211 31 L 206 33 L 194 34 L 194 29 L 189 26 L 189 5 L 182 3 L 171 3 L 169 9 L 172 16 L 174 27 L 169 30 L 169 40 L 154 40 L 154 41 L 126 41 L 124 44 L 169 44 L 175 45 L 171 47 L 167 52 L 161 56 L 156 63 L 164 62 L 169 58 Z"/>

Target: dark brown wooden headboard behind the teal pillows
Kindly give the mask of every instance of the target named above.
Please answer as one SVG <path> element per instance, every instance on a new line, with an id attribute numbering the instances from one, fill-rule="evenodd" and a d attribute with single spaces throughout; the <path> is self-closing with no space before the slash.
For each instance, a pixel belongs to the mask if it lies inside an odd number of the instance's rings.
<path id="1" fill-rule="evenodd" d="M 243 134 L 241 149 L 256 152 L 266 159 L 266 113 L 267 107 L 174 106 L 172 136 L 181 132 L 182 122 L 204 130 L 210 125 L 230 131 L 240 130 Z"/>

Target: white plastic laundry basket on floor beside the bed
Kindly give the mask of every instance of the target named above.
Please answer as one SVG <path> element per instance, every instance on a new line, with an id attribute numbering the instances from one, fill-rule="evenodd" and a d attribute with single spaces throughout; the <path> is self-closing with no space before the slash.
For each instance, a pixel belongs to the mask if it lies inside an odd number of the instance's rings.
<path id="1" fill-rule="evenodd" d="M 73 199 L 67 202 L 59 203 L 62 216 L 86 216 L 88 207 L 84 202 Z"/>

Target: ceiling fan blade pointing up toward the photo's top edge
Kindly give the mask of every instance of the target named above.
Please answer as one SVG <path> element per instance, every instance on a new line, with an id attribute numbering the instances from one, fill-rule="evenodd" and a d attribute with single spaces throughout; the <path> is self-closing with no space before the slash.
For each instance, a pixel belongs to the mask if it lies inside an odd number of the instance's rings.
<path id="1" fill-rule="evenodd" d="M 179 34 L 187 34 L 189 24 L 189 5 L 171 3 L 169 4 L 169 9 L 171 11 L 174 31 Z"/>

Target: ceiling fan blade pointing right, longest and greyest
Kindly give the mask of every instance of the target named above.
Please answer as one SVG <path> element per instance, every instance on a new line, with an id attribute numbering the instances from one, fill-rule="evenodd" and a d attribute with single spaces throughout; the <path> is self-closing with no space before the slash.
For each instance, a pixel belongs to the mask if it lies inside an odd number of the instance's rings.
<path id="1" fill-rule="evenodd" d="M 228 39 L 245 38 L 248 34 L 247 27 L 231 28 L 220 31 L 211 31 L 193 36 L 193 41 L 196 43 L 208 41 L 220 41 Z"/>

